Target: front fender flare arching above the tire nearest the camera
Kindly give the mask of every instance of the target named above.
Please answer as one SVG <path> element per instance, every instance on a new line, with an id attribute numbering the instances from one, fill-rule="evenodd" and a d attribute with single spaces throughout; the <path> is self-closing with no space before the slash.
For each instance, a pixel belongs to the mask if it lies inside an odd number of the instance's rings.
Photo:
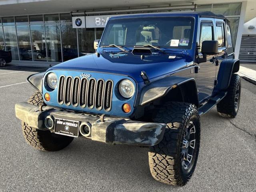
<path id="1" fill-rule="evenodd" d="M 173 88 L 182 86 L 184 84 L 190 85 L 192 88 L 192 93 L 194 94 L 195 102 L 194 104 L 198 107 L 198 92 L 196 81 L 194 78 L 185 78 L 179 76 L 168 76 L 154 82 L 150 82 L 141 91 L 139 104 L 140 106 L 145 105 L 149 102 L 156 100 L 157 98 L 164 97 Z M 192 86 L 191 86 L 192 85 Z"/>

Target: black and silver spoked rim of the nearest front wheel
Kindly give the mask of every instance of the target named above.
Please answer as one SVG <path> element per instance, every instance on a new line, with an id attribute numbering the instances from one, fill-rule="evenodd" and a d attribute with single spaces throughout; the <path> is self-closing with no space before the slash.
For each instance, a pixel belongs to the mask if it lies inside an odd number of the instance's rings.
<path id="1" fill-rule="evenodd" d="M 182 142 L 182 158 L 181 164 L 184 170 L 187 170 L 192 164 L 194 150 L 196 146 L 196 127 L 192 121 L 186 126 Z"/>

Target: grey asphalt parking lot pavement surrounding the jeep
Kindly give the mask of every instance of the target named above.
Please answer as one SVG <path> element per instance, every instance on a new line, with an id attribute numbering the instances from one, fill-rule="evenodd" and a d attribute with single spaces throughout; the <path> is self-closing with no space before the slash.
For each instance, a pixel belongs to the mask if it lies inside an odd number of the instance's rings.
<path id="1" fill-rule="evenodd" d="M 41 152 L 23 138 L 14 105 L 34 88 L 26 83 L 41 68 L 0 68 L 0 191 L 256 191 L 256 86 L 242 79 L 236 118 L 201 117 L 198 163 L 183 187 L 156 182 L 148 149 L 108 145 L 82 138 L 58 152 Z"/>

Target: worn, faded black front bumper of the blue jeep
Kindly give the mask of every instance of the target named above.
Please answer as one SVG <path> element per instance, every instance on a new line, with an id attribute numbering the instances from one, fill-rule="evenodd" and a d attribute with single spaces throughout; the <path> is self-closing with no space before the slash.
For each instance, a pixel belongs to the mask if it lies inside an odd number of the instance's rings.
<path id="1" fill-rule="evenodd" d="M 42 107 L 27 102 L 20 102 L 15 105 L 16 117 L 28 126 L 40 130 L 49 130 L 44 124 L 46 117 L 64 118 L 79 121 L 80 124 L 91 125 L 91 133 L 88 137 L 91 140 L 100 141 L 108 144 L 130 144 L 138 146 L 154 146 L 158 144 L 163 136 L 166 124 L 133 121 L 124 118 L 112 118 L 82 114 L 70 111 L 58 110 L 49 106 Z M 50 130 L 55 132 L 55 125 Z M 80 137 L 83 137 L 79 133 Z"/>

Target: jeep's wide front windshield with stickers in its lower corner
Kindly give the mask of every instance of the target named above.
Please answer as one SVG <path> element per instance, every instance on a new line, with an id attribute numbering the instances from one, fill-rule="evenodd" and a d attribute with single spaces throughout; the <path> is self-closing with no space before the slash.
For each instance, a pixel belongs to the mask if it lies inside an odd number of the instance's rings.
<path id="1" fill-rule="evenodd" d="M 144 17 L 109 20 L 100 46 L 153 45 L 190 49 L 194 19 L 189 17 Z"/>

